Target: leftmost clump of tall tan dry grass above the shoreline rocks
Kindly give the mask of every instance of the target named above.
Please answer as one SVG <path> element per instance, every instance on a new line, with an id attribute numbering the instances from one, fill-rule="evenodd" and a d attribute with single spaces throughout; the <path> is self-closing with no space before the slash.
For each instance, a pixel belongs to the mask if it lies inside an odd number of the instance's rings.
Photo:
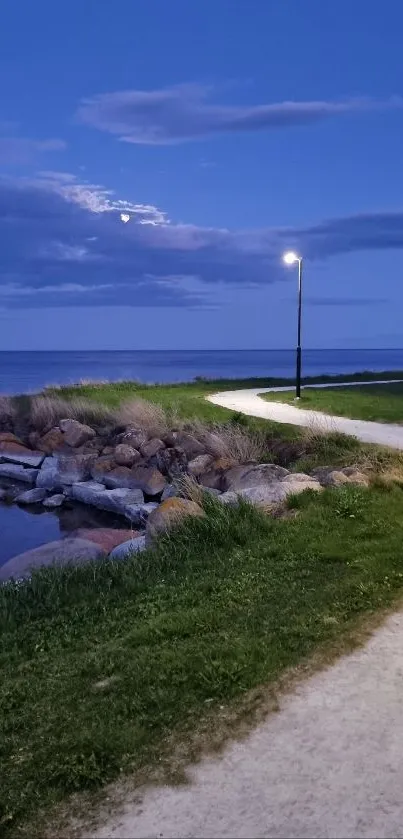
<path id="1" fill-rule="evenodd" d="M 30 421 L 37 431 L 58 425 L 62 419 L 75 419 L 86 425 L 109 425 L 114 422 L 112 411 L 99 402 L 80 397 L 62 399 L 59 396 L 34 396 L 30 405 Z"/>

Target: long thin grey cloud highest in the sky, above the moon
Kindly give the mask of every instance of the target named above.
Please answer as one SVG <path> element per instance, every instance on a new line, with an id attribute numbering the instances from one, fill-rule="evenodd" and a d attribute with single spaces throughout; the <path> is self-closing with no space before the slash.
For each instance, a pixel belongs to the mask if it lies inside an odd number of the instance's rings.
<path id="1" fill-rule="evenodd" d="M 126 143 L 161 145 L 213 134 L 310 125 L 328 117 L 403 106 L 399 97 L 216 105 L 209 102 L 211 93 L 211 88 L 196 84 L 100 93 L 83 100 L 77 116 Z"/>

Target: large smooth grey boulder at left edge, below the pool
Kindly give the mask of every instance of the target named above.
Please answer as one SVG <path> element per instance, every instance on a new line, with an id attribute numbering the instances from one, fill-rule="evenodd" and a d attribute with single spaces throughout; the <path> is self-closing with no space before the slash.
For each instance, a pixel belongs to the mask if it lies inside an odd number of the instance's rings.
<path id="1" fill-rule="evenodd" d="M 81 565 L 104 557 L 105 551 L 94 542 L 86 539 L 61 539 L 10 559 L 0 568 L 0 580 L 29 577 L 31 571 L 45 565 Z"/>

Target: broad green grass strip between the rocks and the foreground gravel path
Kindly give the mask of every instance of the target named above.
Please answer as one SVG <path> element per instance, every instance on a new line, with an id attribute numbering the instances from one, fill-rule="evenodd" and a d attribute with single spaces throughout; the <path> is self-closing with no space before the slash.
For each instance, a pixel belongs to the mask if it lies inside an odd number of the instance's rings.
<path id="1" fill-rule="evenodd" d="M 207 708 L 229 712 L 327 644 L 341 649 L 401 595 L 398 487 L 307 493 L 291 520 L 206 505 L 152 555 L 0 589 L 3 836 L 32 835 L 71 793 L 169 761 Z"/>

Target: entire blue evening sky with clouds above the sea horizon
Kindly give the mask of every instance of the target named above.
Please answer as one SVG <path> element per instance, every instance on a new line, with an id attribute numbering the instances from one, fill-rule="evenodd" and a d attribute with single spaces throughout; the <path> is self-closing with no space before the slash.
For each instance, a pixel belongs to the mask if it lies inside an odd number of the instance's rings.
<path id="1" fill-rule="evenodd" d="M 1 17 L 0 350 L 403 346 L 401 0 Z"/>

